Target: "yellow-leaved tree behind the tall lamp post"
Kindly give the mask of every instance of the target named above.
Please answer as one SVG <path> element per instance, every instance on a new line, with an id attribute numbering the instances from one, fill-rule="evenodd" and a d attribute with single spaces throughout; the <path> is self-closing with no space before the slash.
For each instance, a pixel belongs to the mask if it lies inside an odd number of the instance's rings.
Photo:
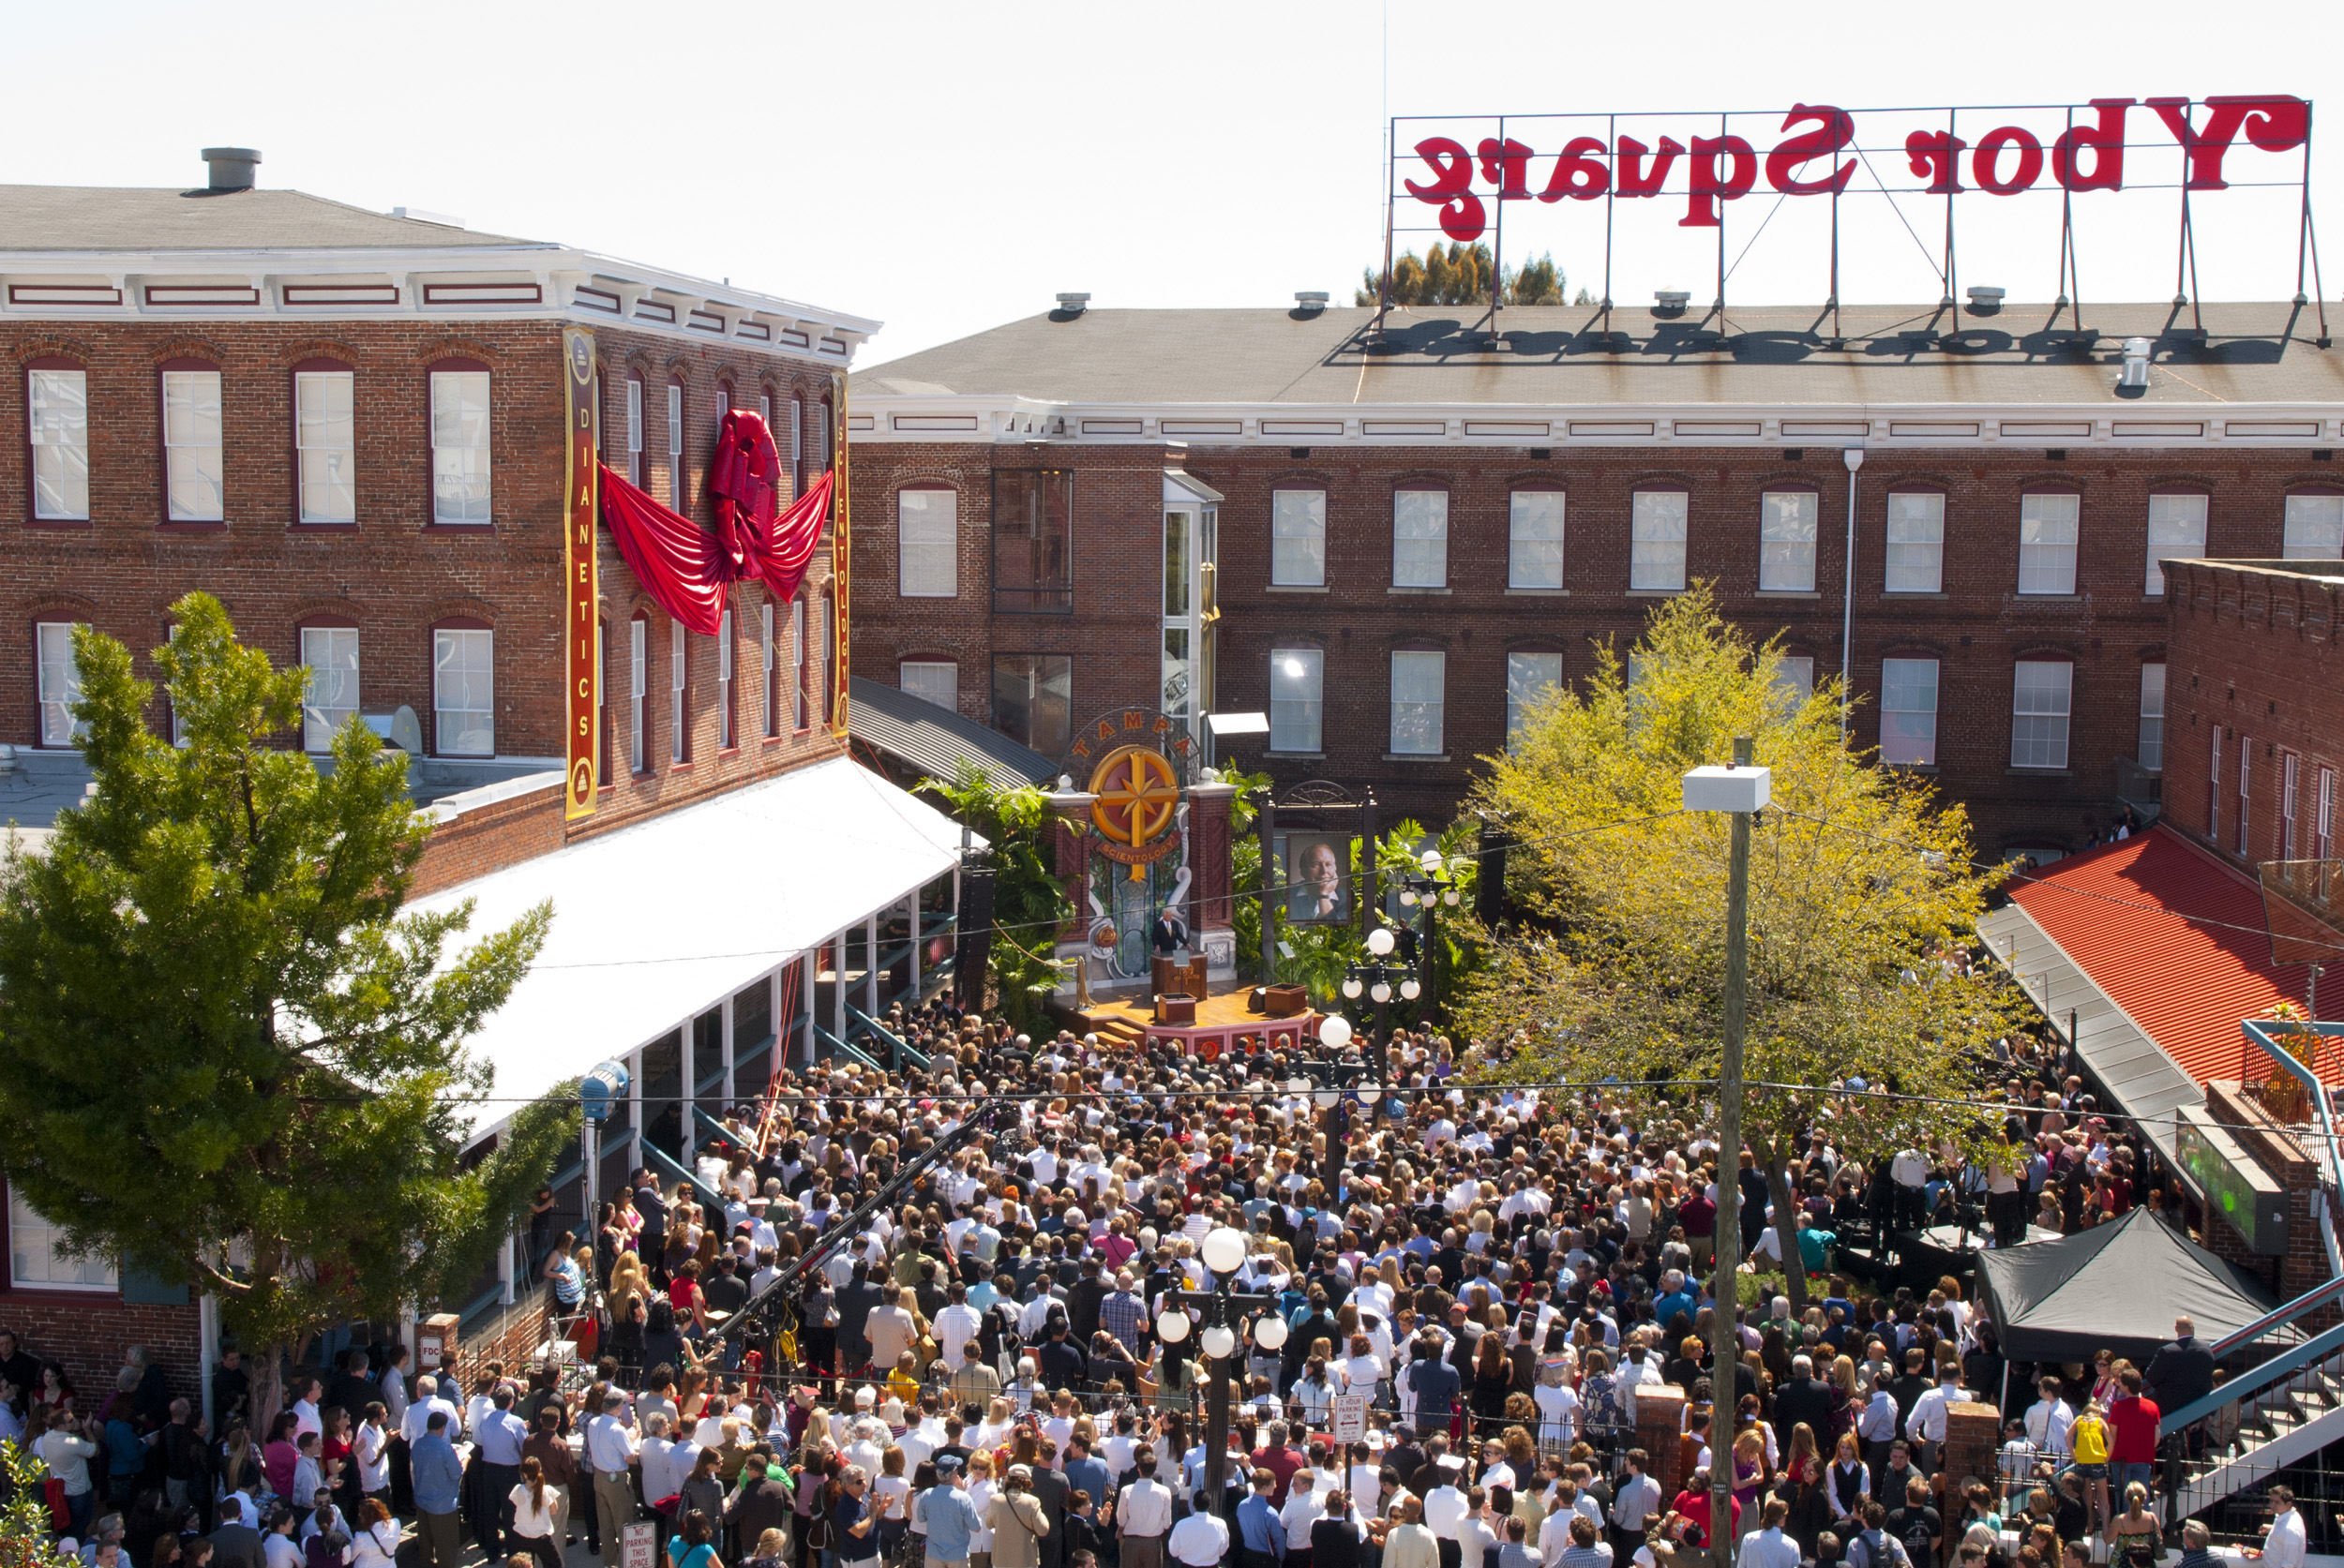
<path id="1" fill-rule="evenodd" d="M 1599 645 L 1585 689 L 1533 705 L 1477 785 L 1514 832 L 1510 893 L 1538 916 L 1470 987 L 1463 1013 L 1495 1045 L 1479 1069 L 1610 1080 L 1660 1113 L 1711 1099 L 1720 1055 L 1728 820 L 1683 813 L 1681 776 L 1756 738 L 1774 804 L 1751 834 L 1742 1130 L 1784 1226 L 1814 1127 L 1849 1155 L 1999 1137 L 1967 1106 L 1896 1095 L 1957 1099 L 2011 1027 L 1999 982 L 1946 966 L 1999 867 L 1971 858 L 1960 806 L 1842 745 L 1838 710 L 1835 680 L 1784 684 L 1779 638 L 1753 645 L 1695 584 L 1629 663 Z M 1788 1263 L 1788 1228 L 1781 1242 Z M 1784 1273 L 1803 1310 L 1805 1270 Z"/>

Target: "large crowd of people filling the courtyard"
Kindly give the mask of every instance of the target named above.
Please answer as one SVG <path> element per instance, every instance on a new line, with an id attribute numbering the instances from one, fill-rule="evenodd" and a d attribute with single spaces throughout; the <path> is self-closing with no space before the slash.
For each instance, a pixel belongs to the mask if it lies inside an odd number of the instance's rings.
<path id="1" fill-rule="evenodd" d="M 2023 1233 L 2173 1202 L 2037 1041 L 1981 1062 L 2023 1163 L 1863 1160 L 1819 1127 L 1796 1214 L 1772 1214 L 1695 1113 L 1467 1088 L 1430 1034 L 1395 1036 L 1388 1095 L 1320 1104 L 1282 1057 L 1034 1038 L 945 1005 L 886 1022 L 924 1069 L 778 1073 L 696 1181 L 640 1170 L 591 1230 L 539 1205 L 537 1273 L 581 1366 L 410 1373 L 370 1345 L 295 1369 L 255 1430 L 230 1355 L 213 1430 L 152 1366 L 84 1416 L 0 1338 L 59 1530 L 101 1568 L 387 1568 L 403 1540 L 424 1568 L 466 1542 L 624 1568 L 631 1526 L 673 1568 L 1669 1568 L 1718 1528 L 1753 1568 L 2164 1549 L 2156 1399 L 2213 1383 L 2187 1324 L 2142 1369 L 2011 1369 L 1992 1472 L 1955 1474 L 1950 1406 L 2004 1385 L 1995 1324 L 1953 1277 L 1903 1287 L 1842 1252 L 1892 1214 L 1969 1205 Z M 1720 1165 L 1753 1256 L 1725 1369 Z M 1207 1268 L 1228 1249 L 1235 1270 Z M 1207 1366 L 1214 1289 L 1242 1317 Z M 1683 1397 L 1638 1409 L 1660 1385 Z M 2271 1561 L 2292 1568 L 2304 1530 L 2281 1516 Z"/>

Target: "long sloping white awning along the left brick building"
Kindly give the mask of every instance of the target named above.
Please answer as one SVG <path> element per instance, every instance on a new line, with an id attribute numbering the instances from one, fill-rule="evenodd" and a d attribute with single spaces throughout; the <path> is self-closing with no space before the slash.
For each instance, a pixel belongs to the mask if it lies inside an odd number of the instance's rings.
<path id="1" fill-rule="evenodd" d="M 860 926 L 959 851 L 959 823 L 839 757 L 415 900 L 476 900 L 471 940 L 553 900 L 546 949 L 471 1038 L 497 1073 L 476 1132 Z"/>

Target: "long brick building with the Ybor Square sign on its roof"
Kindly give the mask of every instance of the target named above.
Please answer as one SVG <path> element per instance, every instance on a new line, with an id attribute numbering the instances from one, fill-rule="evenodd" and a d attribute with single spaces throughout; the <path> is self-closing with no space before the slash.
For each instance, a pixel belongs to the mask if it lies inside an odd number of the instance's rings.
<path id="1" fill-rule="evenodd" d="M 1521 696 L 1709 579 L 1803 680 L 1849 668 L 1856 741 L 1990 853 L 2051 858 L 2154 809 L 2156 560 L 2344 553 L 2344 366 L 2285 305 L 2046 321 L 1015 321 L 856 375 L 858 670 L 1043 752 L 1123 703 L 1266 713 L 1219 752 L 1444 820 Z"/>

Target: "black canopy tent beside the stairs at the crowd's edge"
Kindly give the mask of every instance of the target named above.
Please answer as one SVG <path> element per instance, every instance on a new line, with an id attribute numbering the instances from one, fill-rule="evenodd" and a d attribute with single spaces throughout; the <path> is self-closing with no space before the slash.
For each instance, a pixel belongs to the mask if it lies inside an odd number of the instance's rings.
<path id="1" fill-rule="evenodd" d="M 2138 1364 L 2189 1315 L 2217 1341 L 2278 1305 L 2255 1275 L 2224 1263 L 2178 1226 L 2133 1209 L 2056 1242 L 1978 1256 L 1985 1305 L 2016 1362 L 2089 1362 L 2114 1350 Z"/>

